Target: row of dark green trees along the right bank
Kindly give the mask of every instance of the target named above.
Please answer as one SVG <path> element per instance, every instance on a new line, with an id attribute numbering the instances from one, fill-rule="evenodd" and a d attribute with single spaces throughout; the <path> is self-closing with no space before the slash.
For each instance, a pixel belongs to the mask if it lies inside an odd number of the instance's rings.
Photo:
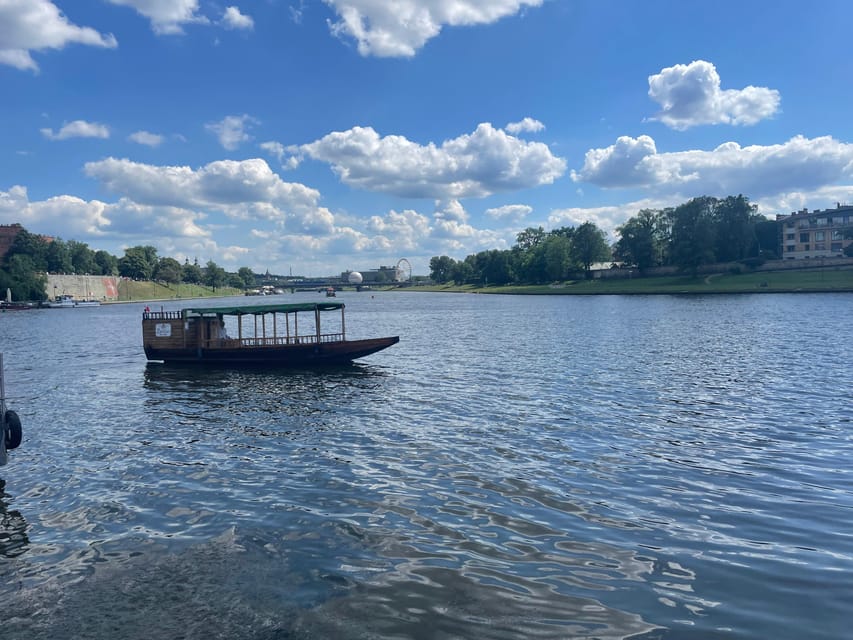
<path id="1" fill-rule="evenodd" d="M 596 262 L 613 261 L 644 273 L 673 266 L 696 274 L 703 264 L 778 258 L 779 227 L 759 215 L 743 195 L 693 198 L 677 207 L 643 209 L 616 228 L 608 245 L 595 223 L 546 232 L 528 227 L 511 249 L 481 251 L 464 260 L 430 259 L 430 278 L 440 284 L 544 284 L 590 275 Z"/>

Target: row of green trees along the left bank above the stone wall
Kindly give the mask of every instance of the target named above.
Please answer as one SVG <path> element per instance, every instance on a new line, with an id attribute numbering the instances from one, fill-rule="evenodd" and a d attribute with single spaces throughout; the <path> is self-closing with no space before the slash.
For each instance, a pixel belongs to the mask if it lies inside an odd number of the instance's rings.
<path id="1" fill-rule="evenodd" d="M 0 290 L 12 289 L 18 300 L 44 300 L 47 273 L 121 276 L 166 285 L 200 284 L 214 290 L 255 285 L 255 274 L 249 267 L 229 273 L 212 260 L 204 267 L 197 259 L 181 264 L 174 258 L 158 256 L 157 249 L 150 245 L 130 247 L 123 256 L 116 257 L 93 250 L 85 242 L 51 240 L 21 230 L 0 265 Z"/>

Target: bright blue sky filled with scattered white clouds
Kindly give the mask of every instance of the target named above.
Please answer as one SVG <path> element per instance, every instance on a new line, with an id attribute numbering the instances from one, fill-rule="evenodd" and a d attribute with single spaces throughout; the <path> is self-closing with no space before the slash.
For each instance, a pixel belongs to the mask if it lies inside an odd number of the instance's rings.
<path id="1" fill-rule="evenodd" d="M 0 224 L 426 275 L 703 195 L 853 203 L 851 24 L 848 0 L 0 0 Z"/>

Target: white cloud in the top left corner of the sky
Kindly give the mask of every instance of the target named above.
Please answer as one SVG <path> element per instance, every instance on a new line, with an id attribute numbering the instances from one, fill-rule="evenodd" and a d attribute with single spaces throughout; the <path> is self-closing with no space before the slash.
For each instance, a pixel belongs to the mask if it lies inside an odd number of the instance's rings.
<path id="1" fill-rule="evenodd" d="M 0 64 L 38 71 L 30 52 L 78 43 L 113 49 L 112 34 L 72 24 L 50 0 L 0 1 Z"/>

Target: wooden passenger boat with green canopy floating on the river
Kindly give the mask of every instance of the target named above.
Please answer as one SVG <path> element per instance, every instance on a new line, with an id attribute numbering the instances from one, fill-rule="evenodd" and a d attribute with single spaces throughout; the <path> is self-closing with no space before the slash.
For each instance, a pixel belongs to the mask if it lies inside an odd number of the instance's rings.
<path id="1" fill-rule="evenodd" d="M 148 360 L 163 362 L 313 366 L 350 362 L 400 341 L 399 336 L 347 340 L 344 306 L 330 301 L 180 311 L 149 311 L 146 307 L 142 344 Z M 340 312 L 337 331 L 324 333 L 320 315 L 330 311 Z M 237 337 L 226 334 L 226 316 L 236 316 Z M 251 318 L 250 326 L 245 326 L 246 317 Z"/>

